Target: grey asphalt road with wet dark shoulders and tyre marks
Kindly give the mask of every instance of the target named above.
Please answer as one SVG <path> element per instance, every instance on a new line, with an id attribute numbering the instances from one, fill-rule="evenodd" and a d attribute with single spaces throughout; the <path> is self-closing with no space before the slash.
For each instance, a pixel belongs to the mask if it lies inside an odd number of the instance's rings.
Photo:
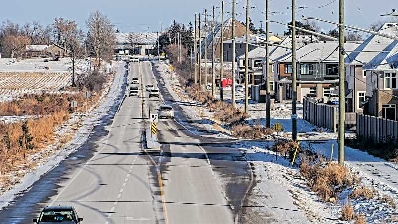
<path id="1" fill-rule="evenodd" d="M 0 212 L 1 223 L 31 223 L 58 204 L 74 206 L 84 224 L 239 222 L 252 182 L 242 153 L 170 119 L 158 123 L 161 149 L 144 150 L 150 110 L 169 104 L 188 118 L 149 62 L 131 63 L 124 82 L 132 77 L 141 80 L 141 96 L 116 102 L 77 152 Z M 157 84 L 162 98 L 148 98 L 147 84 Z"/>

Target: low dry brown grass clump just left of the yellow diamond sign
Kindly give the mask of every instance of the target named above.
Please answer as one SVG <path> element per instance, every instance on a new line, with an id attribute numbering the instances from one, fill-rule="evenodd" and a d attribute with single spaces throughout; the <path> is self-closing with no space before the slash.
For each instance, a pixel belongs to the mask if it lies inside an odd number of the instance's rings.
<path id="1" fill-rule="evenodd" d="M 260 125 L 248 126 L 245 124 L 233 125 L 231 131 L 235 137 L 241 138 L 261 138 L 274 132 L 272 128 L 264 128 Z"/>

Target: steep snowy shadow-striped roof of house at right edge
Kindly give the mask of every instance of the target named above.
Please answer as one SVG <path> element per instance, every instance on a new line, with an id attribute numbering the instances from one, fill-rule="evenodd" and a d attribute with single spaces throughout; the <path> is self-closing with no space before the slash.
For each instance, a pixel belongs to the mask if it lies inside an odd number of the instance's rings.
<path id="1" fill-rule="evenodd" d="M 398 36 L 397 23 L 385 23 L 378 31 Z M 369 36 L 355 51 L 348 54 L 346 64 L 364 65 L 368 70 L 391 70 L 397 67 L 398 41 L 383 36 Z"/>

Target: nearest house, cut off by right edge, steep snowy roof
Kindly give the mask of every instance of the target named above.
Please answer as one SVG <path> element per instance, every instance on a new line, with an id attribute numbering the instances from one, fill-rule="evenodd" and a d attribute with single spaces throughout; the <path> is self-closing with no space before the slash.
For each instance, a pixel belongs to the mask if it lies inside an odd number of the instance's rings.
<path id="1" fill-rule="evenodd" d="M 378 32 L 398 36 L 397 23 L 385 23 Z M 363 113 L 397 120 L 398 40 L 371 35 L 347 58 L 349 66 L 362 66 L 366 88 L 355 97 Z"/>

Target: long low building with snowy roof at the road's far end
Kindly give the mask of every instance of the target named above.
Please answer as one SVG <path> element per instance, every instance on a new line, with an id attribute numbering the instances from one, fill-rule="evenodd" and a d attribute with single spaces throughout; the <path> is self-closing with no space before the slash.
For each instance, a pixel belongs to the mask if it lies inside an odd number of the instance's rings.
<path id="1" fill-rule="evenodd" d="M 115 33 L 114 53 L 148 55 L 157 44 L 157 33 Z"/>

